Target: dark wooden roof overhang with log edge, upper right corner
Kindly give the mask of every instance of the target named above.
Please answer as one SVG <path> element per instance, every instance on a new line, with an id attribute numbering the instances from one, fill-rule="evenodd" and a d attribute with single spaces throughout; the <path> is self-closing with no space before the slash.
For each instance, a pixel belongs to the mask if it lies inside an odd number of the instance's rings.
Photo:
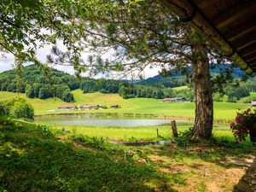
<path id="1" fill-rule="evenodd" d="M 165 0 L 248 75 L 256 73 L 255 0 Z"/>

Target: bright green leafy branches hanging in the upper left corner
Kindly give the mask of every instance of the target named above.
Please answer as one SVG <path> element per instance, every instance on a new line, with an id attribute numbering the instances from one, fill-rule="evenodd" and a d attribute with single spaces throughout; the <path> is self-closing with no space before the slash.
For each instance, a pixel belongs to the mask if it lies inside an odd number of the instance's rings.
<path id="1" fill-rule="evenodd" d="M 36 50 L 44 44 L 55 44 L 56 37 L 65 36 L 61 29 L 65 28 L 70 6 L 68 1 L 61 0 L 1 1 L 0 50 L 15 55 L 19 71 L 24 62 L 40 64 Z"/>

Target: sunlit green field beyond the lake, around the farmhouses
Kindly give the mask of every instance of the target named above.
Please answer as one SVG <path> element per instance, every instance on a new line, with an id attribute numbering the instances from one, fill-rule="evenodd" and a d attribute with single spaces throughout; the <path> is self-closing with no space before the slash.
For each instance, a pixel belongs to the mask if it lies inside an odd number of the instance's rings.
<path id="1" fill-rule="evenodd" d="M 24 94 L 19 94 L 21 97 L 26 97 Z M 114 104 L 119 104 L 119 109 L 106 110 L 90 110 L 91 113 L 139 113 L 139 114 L 158 114 L 170 115 L 176 117 L 194 117 L 195 104 L 194 102 L 172 102 L 165 103 L 161 100 L 152 98 L 131 98 L 123 99 L 118 94 L 102 94 L 88 93 L 83 94 L 82 90 L 74 90 L 74 104 L 99 104 L 110 107 Z M 0 101 L 18 96 L 17 93 L 0 92 Z M 27 99 L 35 108 L 36 114 L 47 113 L 81 113 L 88 111 L 58 111 L 56 110 L 62 102 L 60 99 Z M 214 118 L 215 119 L 233 119 L 237 109 L 249 108 L 250 104 L 242 102 L 215 102 L 214 103 Z"/>

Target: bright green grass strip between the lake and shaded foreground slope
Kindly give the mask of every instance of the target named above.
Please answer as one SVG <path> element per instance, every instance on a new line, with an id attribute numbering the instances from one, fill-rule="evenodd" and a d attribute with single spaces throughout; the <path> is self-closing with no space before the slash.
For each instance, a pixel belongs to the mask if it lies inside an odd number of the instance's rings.
<path id="1" fill-rule="evenodd" d="M 177 122 L 177 131 L 187 131 L 189 127 L 193 127 L 192 123 Z M 43 125 L 43 124 L 38 124 Z M 163 140 L 172 137 L 171 124 L 155 125 L 155 126 L 96 126 L 96 125 L 55 125 L 45 124 L 54 128 L 55 130 L 66 130 L 75 135 L 82 135 L 87 137 L 102 137 L 105 140 Z M 160 137 L 157 137 L 156 129 L 159 131 Z M 215 125 L 213 126 L 212 134 L 216 137 L 232 137 L 230 128 L 227 126 Z"/>

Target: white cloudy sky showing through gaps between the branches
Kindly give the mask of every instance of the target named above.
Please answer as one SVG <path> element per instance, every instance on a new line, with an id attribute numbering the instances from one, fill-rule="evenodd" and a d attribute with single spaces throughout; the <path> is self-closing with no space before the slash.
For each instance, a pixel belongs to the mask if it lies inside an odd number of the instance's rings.
<path id="1" fill-rule="evenodd" d="M 61 43 L 57 44 L 58 48 L 60 48 L 61 50 L 65 50 L 65 46 Z M 42 62 L 46 62 L 46 55 L 50 54 L 50 49 L 51 49 L 51 45 L 45 45 L 44 48 L 38 49 L 38 60 L 42 61 Z M 0 52 L 0 54 L 2 54 Z M 0 73 L 4 72 L 4 71 L 8 71 L 12 68 L 14 68 L 14 56 L 12 54 L 4 54 L 4 57 L 0 57 Z M 26 63 L 24 66 L 29 65 L 28 63 Z M 74 74 L 74 70 L 73 67 L 67 67 L 67 66 L 55 66 L 55 69 L 58 69 L 60 71 L 66 72 L 66 73 L 70 73 L 70 74 Z M 145 73 L 145 79 L 154 77 L 155 75 L 159 74 L 158 73 L 159 69 L 158 68 L 146 68 L 144 73 Z"/>

